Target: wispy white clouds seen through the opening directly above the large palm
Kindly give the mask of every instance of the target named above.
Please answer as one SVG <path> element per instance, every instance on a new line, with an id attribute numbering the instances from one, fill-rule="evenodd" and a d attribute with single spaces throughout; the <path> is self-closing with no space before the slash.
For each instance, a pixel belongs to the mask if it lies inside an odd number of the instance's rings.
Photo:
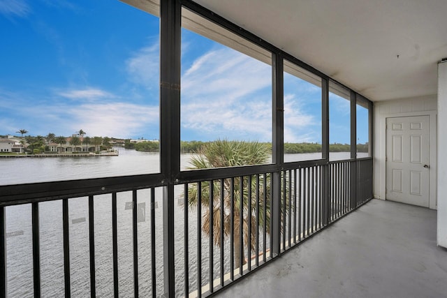
<path id="1" fill-rule="evenodd" d="M 270 66 L 228 48 L 207 52 L 182 75 L 182 129 L 272 140 Z"/>

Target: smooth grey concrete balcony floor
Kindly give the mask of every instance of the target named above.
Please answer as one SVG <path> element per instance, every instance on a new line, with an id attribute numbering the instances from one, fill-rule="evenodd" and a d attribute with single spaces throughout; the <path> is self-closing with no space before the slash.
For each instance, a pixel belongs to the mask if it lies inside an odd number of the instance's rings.
<path id="1" fill-rule="evenodd" d="M 372 200 L 217 297 L 447 297 L 437 211 Z"/>

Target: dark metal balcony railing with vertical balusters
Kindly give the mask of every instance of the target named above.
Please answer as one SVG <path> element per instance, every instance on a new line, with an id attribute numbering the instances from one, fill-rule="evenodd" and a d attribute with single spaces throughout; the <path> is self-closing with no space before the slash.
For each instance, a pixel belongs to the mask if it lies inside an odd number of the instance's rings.
<path id="1" fill-rule="evenodd" d="M 0 296 L 159 297 L 172 277 L 176 297 L 212 295 L 372 198 L 372 158 L 270 168 L 223 169 L 210 178 L 190 172 L 193 179 L 175 184 L 177 204 L 166 215 L 159 174 L 113 178 L 106 187 L 101 179 L 2 186 Z M 6 230 L 17 208 L 31 209 L 30 231 Z M 168 231 L 175 235 L 174 271 L 163 254 L 166 216 L 175 221 Z M 50 219 L 57 224 L 47 225 Z M 57 241 L 45 240 L 43 223 Z M 31 240 L 17 247 L 26 248 L 30 262 L 12 260 L 15 235 L 28 232 Z M 54 264 L 44 269 L 47 258 Z M 32 283 L 20 284 L 17 266 L 32 271 Z"/>

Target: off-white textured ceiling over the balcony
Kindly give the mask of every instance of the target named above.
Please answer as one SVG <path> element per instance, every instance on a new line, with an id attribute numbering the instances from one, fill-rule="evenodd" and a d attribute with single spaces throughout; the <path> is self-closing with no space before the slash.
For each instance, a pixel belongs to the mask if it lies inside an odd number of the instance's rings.
<path id="1" fill-rule="evenodd" d="M 447 0 L 196 0 L 370 100 L 437 94 Z"/>

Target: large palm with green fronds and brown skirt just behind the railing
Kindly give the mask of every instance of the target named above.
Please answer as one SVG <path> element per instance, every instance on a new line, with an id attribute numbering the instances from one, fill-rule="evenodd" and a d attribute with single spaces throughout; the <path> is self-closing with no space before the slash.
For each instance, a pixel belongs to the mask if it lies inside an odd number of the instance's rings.
<path id="1" fill-rule="evenodd" d="M 259 142 L 244 142 L 244 141 L 228 141 L 217 140 L 204 144 L 198 151 L 198 155 L 191 158 L 191 167 L 189 169 L 205 169 L 210 167 L 235 167 L 240 165 L 257 165 L 268 162 L 269 149 L 265 144 Z M 259 202 L 259 211 L 256 214 L 257 193 L 256 191 L 256 176 L 251 177 L 251 186 L 249 186 L 249 177 L 242 179 L 242 197 L 243 197 L 243 244 L 240 243 L 240 191 L 241 179 L 224 179 L 223 184 L 215 181 L 213 184 L 213 218 L 210 213 L 210 181 L 203 181 L 201 183 L 201 204 L 205 210 L 203 213 L 202 230 L 211 237 L 212 231 L 214 244 L 221 246 L 221 221 L 223 223 L 224 237 L 228 237 L 231 232 L 234 235 L 234 249 L 235 249 L 235 265 L 239 267 L 241 258 L 244 255 L 240 254 L 240 246 L 248 247 L 249 241 L 251 243 L 251 251 L 256 251 L 256 223 L 259 223 L 259 228 L 263 229 L 264 221 L 266 223 L 267 231 L 270 232 L 270 175 L 267 179 L 260 177 L 259 179 L 259 197 L 264 198 L 264 201 Z M 264 184 L 265 187 L 264 187 Z M 223 188 L 223 218 L 221 218 L 221 187 Z M 251 187 L 251 192 L 249 188 Z M 264 193 L 265 191 L 265 193 Z M 251 193 L 251 197 L 249 196 Z M 198 206 L 198 184 L 191 184 L 188 189 L 188 204 L 191 209 L 196 209 Z M 233 200 L 232 200 L 233 199 Z M 233 202 L 232 202 L 233 201 Z M 251 210 L 249 210 L 249 201 L 251 201 Z M 233 208 L 232 208 L 233 207 Z M 231 209 L 233 209 L 233 231 L 231 231 L 232 216 Z M 266 218 L 264 218 L 264 209 Z M 248 216 L 251 214 L 251 216 Z M 249 218 L 251 223 L 249 225 Z M 211 224 L 212 223 L 212 224 Z M 251 227 L 251 232 L 249 228 Z M 211 229 L 212 228 L 212 229 Z M 251 235 L 251 237 L 249 236 Z M 250 237 L 250 239 L 249 239 Z"/>

